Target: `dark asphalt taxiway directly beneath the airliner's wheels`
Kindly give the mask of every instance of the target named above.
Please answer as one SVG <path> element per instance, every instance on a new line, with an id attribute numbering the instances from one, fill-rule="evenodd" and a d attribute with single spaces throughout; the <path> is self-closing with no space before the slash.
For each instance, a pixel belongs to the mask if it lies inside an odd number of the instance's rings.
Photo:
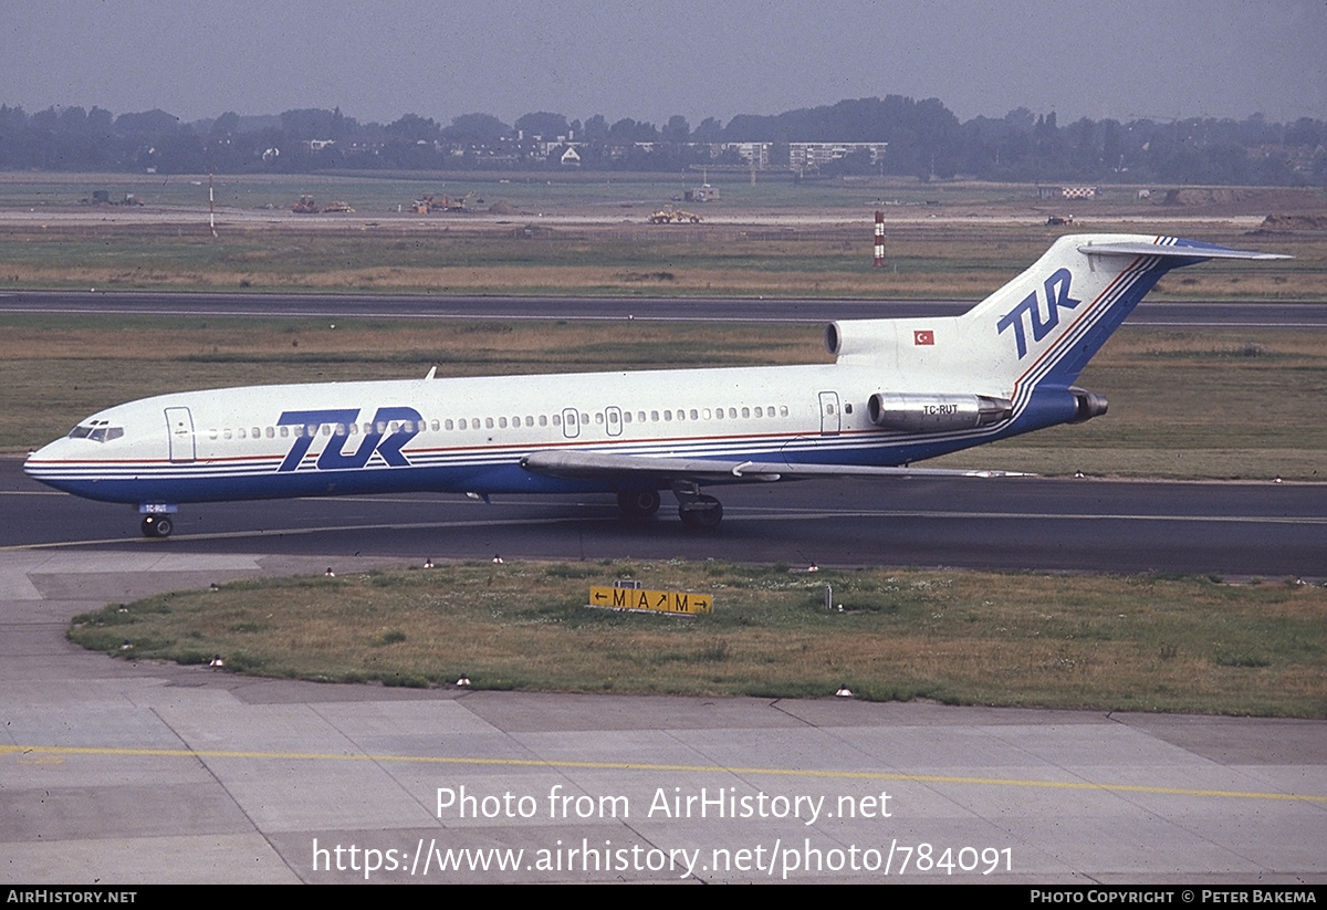
<path id="1" fill-rule="evenodd" d="M 718 532 L 648 523 L 610 496 L 394 495 L 186 505 L 167 541 L 127 505 L 49 491 L 0 460 L 0 552 L 157 548 L 423 560 L 725 558 L 821 565 L 1327 576 L 1327 484 L 1101 480 L 811 480 L 711 489 Z"/>

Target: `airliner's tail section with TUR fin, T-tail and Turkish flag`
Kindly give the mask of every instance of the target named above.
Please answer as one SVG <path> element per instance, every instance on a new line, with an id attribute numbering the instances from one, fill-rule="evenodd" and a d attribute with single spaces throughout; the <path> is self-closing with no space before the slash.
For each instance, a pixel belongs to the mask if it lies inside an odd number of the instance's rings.
<path id="1" fill-rule="evenodd" d="M 1286 256 L 1177 237 L 1066 236 L 963 316 L 835 322 L 825 344 L 840 363 L 874 374 L 872 421 L 885 428 L 930 426 L 941 443 L 947 427 L 943 444 L 958 447 L 1080 422 L 1105 413 L 1104 398 L 1074 386 L 1087 362 L 1162 275 L 1208 259 Z M 894 417 L 909 405 L 922 417 Z M 928 417 L 945 409 L 958 417 Z M 918 456 L 943 451 L 936 444 Z"/>

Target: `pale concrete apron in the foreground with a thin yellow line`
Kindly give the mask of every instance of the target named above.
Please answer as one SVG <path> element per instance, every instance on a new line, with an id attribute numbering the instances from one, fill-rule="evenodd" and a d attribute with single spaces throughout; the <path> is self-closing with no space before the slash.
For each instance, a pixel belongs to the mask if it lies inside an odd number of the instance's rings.
<path id="1" fill-rule="evenodd" d="M 399 690 L 65 641 L 324 561 L 174 543 L 0 553 L 0 881 L 1327 882 L 1320 720 Z"/>

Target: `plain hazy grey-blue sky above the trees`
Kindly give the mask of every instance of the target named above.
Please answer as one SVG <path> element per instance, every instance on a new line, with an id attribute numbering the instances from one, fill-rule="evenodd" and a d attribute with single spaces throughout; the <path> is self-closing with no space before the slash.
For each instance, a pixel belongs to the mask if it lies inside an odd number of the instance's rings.
<path id="1" fill-rule="evenodd" d="M 959 119 L 1327 119 L 1327 0 L 9 0 L 0 103 L 694 127 L 841 98 Z"/>

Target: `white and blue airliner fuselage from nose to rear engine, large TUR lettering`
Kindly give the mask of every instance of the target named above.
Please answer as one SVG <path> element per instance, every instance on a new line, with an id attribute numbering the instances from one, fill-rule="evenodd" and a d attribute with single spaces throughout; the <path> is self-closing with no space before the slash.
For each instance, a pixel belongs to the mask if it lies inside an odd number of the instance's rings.
<path id="1" fill-rule="evenodd" d="M 179 393 L 94 414 L 80 424 L 90 432 L 50 443 L 27 470 L 94 499 L 187 503 L 660 486 L 529 475 L 519 460 L 536 451 L 898 464 L 920 443 L 929 454 L 943 446 L 872 426 L 864 405 L 882 387 L 872 373 L 820 365 Z"/>

